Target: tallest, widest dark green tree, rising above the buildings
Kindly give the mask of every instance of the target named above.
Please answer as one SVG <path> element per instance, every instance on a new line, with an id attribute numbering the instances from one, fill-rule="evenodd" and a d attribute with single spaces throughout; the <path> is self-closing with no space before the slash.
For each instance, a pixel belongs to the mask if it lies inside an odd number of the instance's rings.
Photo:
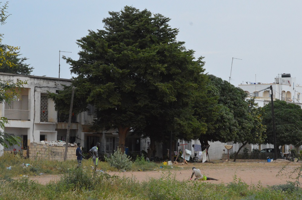
<path id="1" fill-rule="evenodd" d="M 195 60 L 194 51 L 176 41 L 178 29 L 161 14 L 129 6 L 109 14 L 104 30 L 77 40 L 79 60 L 66 59 L 77 75 L 75 110 L 94 105 L 95 127 L 117 128 L 122 149 L 126 133 L 156 125 L 153 118 L 165 122 L 164 134 L 178 138 L 205 132 L 192 109 L 205 87 L 202 58 Z M 53 96 L 57 110 L 64 110 L 70 91 Z"/>

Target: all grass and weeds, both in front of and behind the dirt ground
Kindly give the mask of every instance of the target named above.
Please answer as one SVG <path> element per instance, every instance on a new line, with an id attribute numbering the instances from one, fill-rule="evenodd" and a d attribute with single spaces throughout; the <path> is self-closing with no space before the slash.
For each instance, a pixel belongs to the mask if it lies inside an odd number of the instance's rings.
<path id="1" fill-rule="evenodd" d="M 26 167 L 23 163 L 30 164 Z M 11 169 L 7 169 L 7 164 Z M 76 161 L 46 161 L 21 159 L 18 155 L 0 157 L 0 199 L 301 199 L 302 189 L 288 183 L 263 187 L 249 186 L 236 176 L 228 184 L 201 181 L 179 181 L 169 172 L 160 179 L 139 183 L 136 179 L 110 176 L 106 172 L 94 172 L 91 160 L 83 161 L 76 169 Z M 99 165 L 103 171 L 117 170 L 107 162 Z M 160 164 L 138 157 L 131 170 L 150 170 Z M 162 169 L 161 169 L 162 170 Z M 25 175 L 61 173 L 59 181 L 42 185 Z M 23 174 L 21 179 L 12 179 Z M 25 177 L 23 177 L 25 176 Z"/>

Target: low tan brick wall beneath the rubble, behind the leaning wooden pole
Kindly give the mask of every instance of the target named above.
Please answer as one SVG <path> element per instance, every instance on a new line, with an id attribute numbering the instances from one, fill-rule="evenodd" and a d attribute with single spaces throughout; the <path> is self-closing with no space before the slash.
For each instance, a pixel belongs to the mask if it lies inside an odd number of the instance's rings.
<path id="1" fill-rule="evenodd" d="M 76 148 L 68 147 L 67 160 L 76 160 Z M 45 159 L 45 160 L 64 160 L 65 146 L 47 146 L 31 143 L 29 145 L 29 158 L 34 159 Z"/>

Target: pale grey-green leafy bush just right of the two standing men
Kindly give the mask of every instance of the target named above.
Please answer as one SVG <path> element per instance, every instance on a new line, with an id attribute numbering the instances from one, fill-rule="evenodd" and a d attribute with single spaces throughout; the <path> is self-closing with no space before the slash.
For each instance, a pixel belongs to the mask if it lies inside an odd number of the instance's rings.
<path id="1" fill-rule="evenodd" d="M 127 156 L 125 152 L 122 153 L 120 148 L 117 148 L 109 158 L 105 157 L 105 161 L 107 161 L 111 167 L 116 167 L 118 170 L 129 170 L 132 167 L 131 157 Z"/>

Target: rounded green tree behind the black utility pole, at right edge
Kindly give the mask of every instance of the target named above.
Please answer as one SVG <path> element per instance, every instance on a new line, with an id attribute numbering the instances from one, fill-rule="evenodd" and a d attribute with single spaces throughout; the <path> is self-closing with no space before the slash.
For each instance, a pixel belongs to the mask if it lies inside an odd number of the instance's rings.
<path id="1" fill-rule="evenodd" d="M 294 145 L 299 147 L 302 143 L 302 109 L 294 103 L 281 100 L 274 101 L 276 143 L 279 145 Z M 263 107 L 263 124 L 267 126 L 266 143 L 273 144 L 273 126 L 271 103 Z"/>

